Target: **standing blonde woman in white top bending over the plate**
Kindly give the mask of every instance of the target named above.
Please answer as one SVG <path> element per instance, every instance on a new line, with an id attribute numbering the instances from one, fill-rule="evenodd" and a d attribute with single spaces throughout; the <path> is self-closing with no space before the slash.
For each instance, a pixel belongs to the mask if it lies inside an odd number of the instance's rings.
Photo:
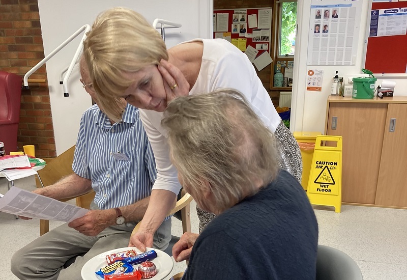
<path id="1" fill-rule="evenodd" d="M 100 14 L 83 43 L 83 54 L 100 106 L 114 121 L 124 98 L 140 108 L 157 164 L 149 207 L 130 245 L 151 246 L 152 234 L 174 205 L 181 186 L 170 161 L 166 131 L 161 126 L 167 103 L 179 96 L 234 88 L 242 92 L 254 112 L 274 132 L 279 163 L 301 181 L 302 161 L 298 144 L 284 126 L 267 90 L 247 56 L 222 39 L 196 39 L 167 51 L 160 34 L 140 14 L 113 8 Z M 197 209 L 199 231 L 215 216 Z"/>

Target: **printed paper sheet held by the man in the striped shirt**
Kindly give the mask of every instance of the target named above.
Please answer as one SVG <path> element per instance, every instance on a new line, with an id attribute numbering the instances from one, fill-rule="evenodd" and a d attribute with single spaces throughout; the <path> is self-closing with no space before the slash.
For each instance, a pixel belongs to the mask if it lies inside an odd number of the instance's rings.
<path id="1" fill-rule="evenodd" d="M 0 211 L 28 218 L 72 221 L 89 212 L 88 209 L 57 201 L 31 191 L 12 187 L 0 200 Z"/>

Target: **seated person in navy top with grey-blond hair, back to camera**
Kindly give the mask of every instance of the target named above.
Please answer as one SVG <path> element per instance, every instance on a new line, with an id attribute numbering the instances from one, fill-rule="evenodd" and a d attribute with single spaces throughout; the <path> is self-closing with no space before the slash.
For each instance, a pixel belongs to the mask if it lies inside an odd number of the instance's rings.
<path id="1" fill-rule="evenodd" d="M 183 279 L 315 279 L 318 226 L 300 183 L 280 170 L 275 140 L 242 94 L 179 97 L 162 125 L 180 183 L 218 215 L 172 249 Z"/>

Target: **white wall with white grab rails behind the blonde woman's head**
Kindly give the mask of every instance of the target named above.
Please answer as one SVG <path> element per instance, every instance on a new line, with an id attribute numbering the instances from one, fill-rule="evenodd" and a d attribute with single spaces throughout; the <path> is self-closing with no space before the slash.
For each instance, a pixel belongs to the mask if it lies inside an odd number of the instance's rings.
<path id="1" fill-rule="evenodd" d="M 128 7 L 147 18 L 181 23 L 180 29 L 166 30 L 168 47 L 193 38 L 212 38 L 212 0 L 39 0 L 42 38 L 45 55 L 49 54 L 84 24 L 92 25 L 96 16 L 112 7 Z M 76 143 L 80 117 L 92 105 L 90 96 L 82 89 L 75 68 L 69 82 L 69 97 L 64 97 L 59 83 L 61 71 L 69 65 L 78 47 L 77 37 L 46 63 L 55 133 L 56 153 L 59 155 Z"/>

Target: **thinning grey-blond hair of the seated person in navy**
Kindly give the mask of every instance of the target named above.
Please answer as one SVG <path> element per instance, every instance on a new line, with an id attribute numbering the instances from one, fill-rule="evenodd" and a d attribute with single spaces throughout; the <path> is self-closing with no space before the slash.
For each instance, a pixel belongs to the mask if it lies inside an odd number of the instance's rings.
<path id="1" fill-rule="evenodd" d="M 208 187 L 202 180 L 208 181 L 216 212 L 277 177 L 274 135 L 236 90 L 176 98 L 161 124 L 168 130 L 171 158 L 183 181 L 198 193 Z"/>

